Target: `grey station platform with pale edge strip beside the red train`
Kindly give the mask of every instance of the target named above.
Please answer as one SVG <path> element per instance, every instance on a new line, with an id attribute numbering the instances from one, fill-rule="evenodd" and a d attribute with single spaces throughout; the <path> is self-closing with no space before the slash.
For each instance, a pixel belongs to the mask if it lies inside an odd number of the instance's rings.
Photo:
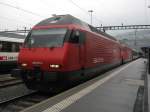
<path id="1" fill-rule="evenodd" d="M 145 61 L 122 65 L 22 112 L 133 112 Z"/>

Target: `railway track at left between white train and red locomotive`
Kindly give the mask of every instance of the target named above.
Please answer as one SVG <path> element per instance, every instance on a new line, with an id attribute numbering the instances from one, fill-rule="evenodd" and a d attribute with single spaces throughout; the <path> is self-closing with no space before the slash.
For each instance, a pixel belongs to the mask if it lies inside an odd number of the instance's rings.
<path id="1" fill-rule="evenodd" d="M 13 86 L 17 84 L 23 83 L 22 80 L 16 79 L 14 77 L 11 77 L 9 75 L 5 77 L 0 77 L 0 88 L 8 87 L 8 86 Z"/>

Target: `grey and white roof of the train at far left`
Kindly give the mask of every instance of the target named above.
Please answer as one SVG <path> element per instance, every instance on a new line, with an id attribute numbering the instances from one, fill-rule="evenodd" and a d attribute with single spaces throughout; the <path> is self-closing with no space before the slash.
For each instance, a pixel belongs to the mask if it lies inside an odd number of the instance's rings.
<path id="1" fill-rule="evenodd" d="M 0 32 L 0 41 L 23 43 L 24 39 L 25 39 L 24 35 L 15 34 L 15 33 Z"/>

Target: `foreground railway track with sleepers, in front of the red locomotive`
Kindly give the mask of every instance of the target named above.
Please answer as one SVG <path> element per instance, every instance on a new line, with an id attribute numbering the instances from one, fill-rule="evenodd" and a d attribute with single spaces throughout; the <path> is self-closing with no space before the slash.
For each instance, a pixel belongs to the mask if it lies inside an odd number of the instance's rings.
<path id="1" fill-rule="evenodd" d="M 52 95 L 50 94 L 44 94 L 37 91 L 23 96 L 18 96 L 16 98 L 0 102 L 0 112 L 19 112 L 30 106 L 40 103 L 51 96 Z"/>

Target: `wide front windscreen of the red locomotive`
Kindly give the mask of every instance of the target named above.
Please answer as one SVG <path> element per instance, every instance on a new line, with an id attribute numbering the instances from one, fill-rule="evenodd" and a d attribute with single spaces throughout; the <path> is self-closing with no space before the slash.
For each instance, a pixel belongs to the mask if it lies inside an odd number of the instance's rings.
<path id="1" fill-rule="evenodd" d="M 32 30 L 25 41 L 25 47 L 61 47 L 67 29 L 51 28 Z"/>

